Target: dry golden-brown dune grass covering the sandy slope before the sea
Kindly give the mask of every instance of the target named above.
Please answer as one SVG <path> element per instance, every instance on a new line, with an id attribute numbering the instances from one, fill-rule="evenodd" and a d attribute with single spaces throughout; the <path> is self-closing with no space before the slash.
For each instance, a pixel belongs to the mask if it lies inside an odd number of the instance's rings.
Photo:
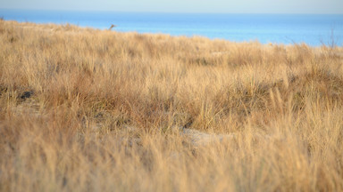
<path id="1" fill-rule="evenodd" d="M 0 20 L 0 191 L 343 191 L 342 65 Z"/>

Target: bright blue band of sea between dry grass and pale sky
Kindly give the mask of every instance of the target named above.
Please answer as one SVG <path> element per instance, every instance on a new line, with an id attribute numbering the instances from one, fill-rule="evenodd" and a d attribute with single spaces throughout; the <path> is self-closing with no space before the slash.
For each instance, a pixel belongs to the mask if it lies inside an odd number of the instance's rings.
<path id="1" fill-rule="evenodd" d="M 229 14 L 63 12 L 0 10 L 4 20 L 74 24 L 80 27 L 171 36 L 206 36 L 233 42 L 262 44 L 331 44 L 343 46 L 343 14 Z"/>

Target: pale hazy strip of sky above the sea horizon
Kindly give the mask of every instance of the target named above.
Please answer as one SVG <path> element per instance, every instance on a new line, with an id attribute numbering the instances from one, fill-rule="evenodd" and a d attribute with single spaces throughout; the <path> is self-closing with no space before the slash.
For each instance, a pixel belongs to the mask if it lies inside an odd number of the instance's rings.
<path id="1" fill-rule="evenodd" d="M 343 0 L 0 0 L 0 9 L 342 14 Z"/>

